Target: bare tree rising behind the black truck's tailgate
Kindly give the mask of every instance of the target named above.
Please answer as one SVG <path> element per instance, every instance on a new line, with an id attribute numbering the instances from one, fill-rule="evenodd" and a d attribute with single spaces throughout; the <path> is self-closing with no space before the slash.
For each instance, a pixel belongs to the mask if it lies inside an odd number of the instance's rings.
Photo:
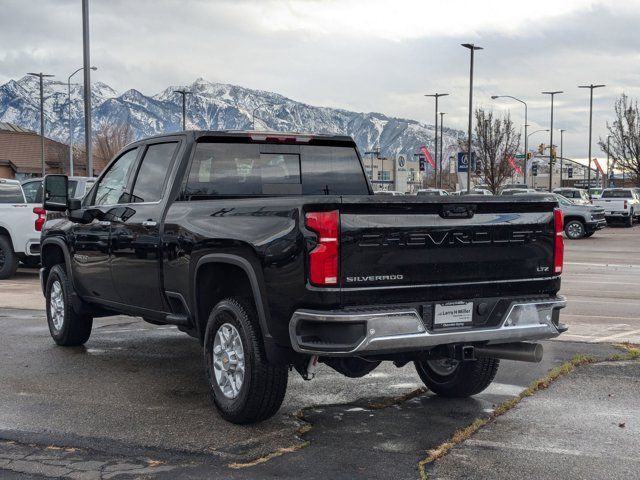
<path id="1" fill-rule="evenodd" d="M 509 158 L 518 151 L 520 134 L 516 133 L 509 114 L 494 117 L 493 112 L 480 108 L 475 111 L 475 117 L 473 149 L 477 161 L 481 162 L 487 186 L 497 194 L 514 173 Z"/>

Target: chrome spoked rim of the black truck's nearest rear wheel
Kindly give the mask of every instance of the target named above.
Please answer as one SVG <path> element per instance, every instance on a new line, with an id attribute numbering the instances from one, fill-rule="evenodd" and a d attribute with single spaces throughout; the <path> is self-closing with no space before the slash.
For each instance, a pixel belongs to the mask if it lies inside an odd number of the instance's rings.
<path id="1" fill-rule="evenodd" d="M 213 373 L 225 397 L 234 399 L 244 382 L 244 348 L 236 327 L 223 323 L 213 339 Z"/>

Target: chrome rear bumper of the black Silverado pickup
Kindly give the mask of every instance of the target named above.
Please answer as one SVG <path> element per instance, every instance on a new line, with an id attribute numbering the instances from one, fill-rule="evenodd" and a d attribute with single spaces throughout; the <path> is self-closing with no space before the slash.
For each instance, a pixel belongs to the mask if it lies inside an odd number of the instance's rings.
<path id="1" fill-rule="evenodd" d="M 291 317 L 289 336 L 295 351 L 321 356 L 420 351 L 455 343 L 542 340 L 566 330 L 557 321 L 557 310 L 565 306 L 566 301 L 560 296 L 544 301 L 514 301 L 497 327 L 442 331 L 425 326 L 416 308 L 357 312 L 301 309 Z"/>

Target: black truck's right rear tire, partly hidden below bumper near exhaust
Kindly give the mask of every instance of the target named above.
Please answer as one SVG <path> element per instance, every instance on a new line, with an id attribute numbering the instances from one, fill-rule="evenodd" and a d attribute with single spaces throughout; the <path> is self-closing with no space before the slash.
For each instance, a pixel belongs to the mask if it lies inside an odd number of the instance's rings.
<path id="1" fill-rule="evenodd" d="M 442 397 L 469 397 L 482 392 L 493 381 L 500 360 L 480 358 L 475 361 L 458 362 L 447 374 L 436 372 L 429 361 L 415 362 L 418 375 L 433 393 Z"/>

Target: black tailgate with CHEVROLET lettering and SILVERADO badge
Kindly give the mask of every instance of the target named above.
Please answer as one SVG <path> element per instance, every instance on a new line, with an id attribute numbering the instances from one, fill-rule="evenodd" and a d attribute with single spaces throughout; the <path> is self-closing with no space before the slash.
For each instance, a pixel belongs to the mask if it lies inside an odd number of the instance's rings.
<path id="1" fill-rule="evenodd" d="M 341 287 L 554 276 L 553 197 L 343 197 Z"/>

